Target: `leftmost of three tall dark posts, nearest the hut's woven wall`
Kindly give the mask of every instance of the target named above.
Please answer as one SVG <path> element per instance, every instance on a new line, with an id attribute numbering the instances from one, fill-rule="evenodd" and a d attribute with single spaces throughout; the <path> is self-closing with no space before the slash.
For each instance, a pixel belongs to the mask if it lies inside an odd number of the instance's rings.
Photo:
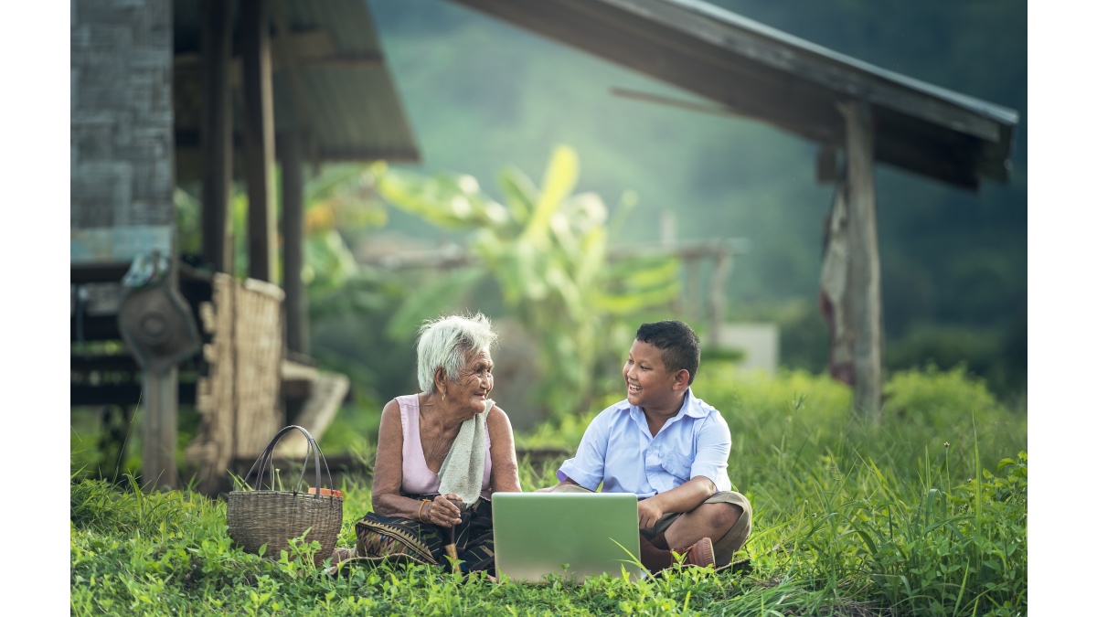
<path id="1" fill-rule="evenodd" d="M 233 271 L 231 2 L 202 1 L 202 257 Z"/>

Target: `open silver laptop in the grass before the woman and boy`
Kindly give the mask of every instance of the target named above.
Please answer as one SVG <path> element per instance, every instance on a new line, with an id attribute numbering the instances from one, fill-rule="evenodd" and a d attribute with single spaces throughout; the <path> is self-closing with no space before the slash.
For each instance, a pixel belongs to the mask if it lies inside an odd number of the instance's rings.
<path id="1" fill-rule="evenodd" d="M 642 572 L 640 519 L 632 493 L 496 493 L 491 495 L 496 575 L 581 583 L 608 573 Z"/>

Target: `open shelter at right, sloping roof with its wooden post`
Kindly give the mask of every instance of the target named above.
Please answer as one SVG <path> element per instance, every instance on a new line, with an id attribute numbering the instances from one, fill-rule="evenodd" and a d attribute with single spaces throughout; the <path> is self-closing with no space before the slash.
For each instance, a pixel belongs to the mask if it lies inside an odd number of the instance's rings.
<path id="1" fill-rule="evenodd" d="M 452 0 L 819 145 L 836 183 L 821 303 L 832 372 L 880 408 L 875 162 L 964 190 L 1009 178 L 1017 112 L 815 45 L 700 0 Z M 839 156 L 841 155 L 841 156 Z"/>

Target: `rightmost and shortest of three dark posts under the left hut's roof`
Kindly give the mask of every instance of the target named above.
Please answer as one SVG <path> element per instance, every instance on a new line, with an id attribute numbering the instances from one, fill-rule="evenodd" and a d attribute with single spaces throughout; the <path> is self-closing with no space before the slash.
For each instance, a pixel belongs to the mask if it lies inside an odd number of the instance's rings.
<path id="1" fill-rule="evenodd" d="M 299 135 L 279 137 L 282 153 L 282 289 L 285 290 L 286 347 L 308 355 L 308 299 L 301 280 L 305 267 L 305 186 Z"/>

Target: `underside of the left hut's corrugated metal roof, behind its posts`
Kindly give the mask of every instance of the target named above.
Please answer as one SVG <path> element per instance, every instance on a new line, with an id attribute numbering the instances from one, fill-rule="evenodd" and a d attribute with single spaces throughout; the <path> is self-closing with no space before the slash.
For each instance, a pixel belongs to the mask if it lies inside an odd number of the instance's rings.
<path id="1" fill-rule="evenodd" d="M 418 161 L 419 148 L 365 0 L 273 0 L 270 9 L 275 133 L 305 130 L 309 136 L 306 157 L 315 162 Z M 239 9 L 234 7 L 234 32 L 239 30 L 238 15 Z M 202 104 L 201 19 L 200 0 L 176 0 L 177 147 L 195 152 Z M 289 36 L 281 32 L 281 22 Z M 292 54 L 290 61 L 285 52 Z M 238 87 L 238 56 L 233 64 L 230 81 Z M 292 70 L 299 79 L 296 91 Z M 242 143 L 240 98 L 234 96 L 237 144 Z M 184 154 L 179 161 L 180 177 L 191 177 L 196 172 L 193 167 Z"/>

